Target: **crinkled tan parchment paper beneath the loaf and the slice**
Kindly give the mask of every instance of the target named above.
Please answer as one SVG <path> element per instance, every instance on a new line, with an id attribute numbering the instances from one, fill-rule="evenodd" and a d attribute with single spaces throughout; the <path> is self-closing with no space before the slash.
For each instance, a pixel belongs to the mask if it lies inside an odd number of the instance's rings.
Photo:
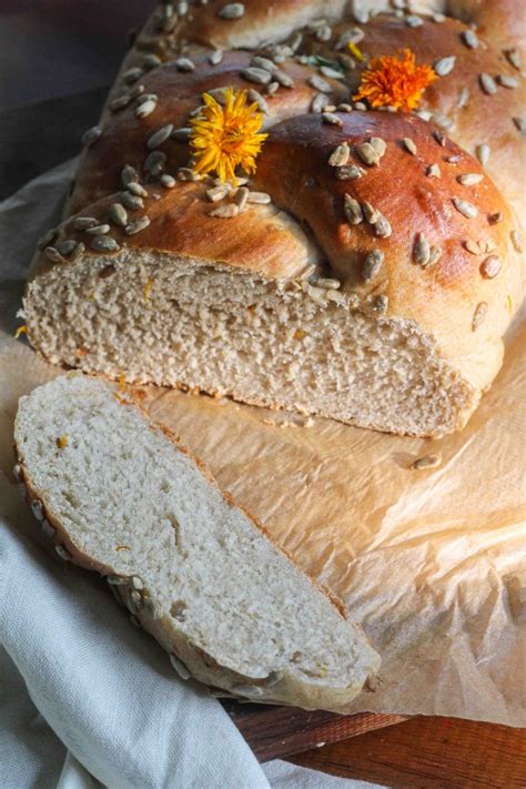
<path id="1" fill-rule="evenodd" d="M 73 169 L 0 206 L 6 473 L 17 398 L 62 372 L 10 335 L 36 237 L 57 221 Z M 152 415 L 344 599 L 382 655 L 382 685 L 347 711 L 526 726 L 524 323 L 507 345 L 467 427 L 433 442 L 148 388 Z M 411 468 L 429 453 L 439 467 Z"/>

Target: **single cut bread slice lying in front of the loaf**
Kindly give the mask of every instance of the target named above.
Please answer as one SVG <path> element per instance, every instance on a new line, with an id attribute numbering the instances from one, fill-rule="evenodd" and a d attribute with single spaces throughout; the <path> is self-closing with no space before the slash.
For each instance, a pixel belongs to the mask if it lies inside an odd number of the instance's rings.
<path id="1" fill-rule="evenodd" d="M 227 694 L 338 709 L 380 658 L 206 468 L 101 380 L 22 397 L 17 474 L 64 559 L 107 576 L 176 669 Z"/>

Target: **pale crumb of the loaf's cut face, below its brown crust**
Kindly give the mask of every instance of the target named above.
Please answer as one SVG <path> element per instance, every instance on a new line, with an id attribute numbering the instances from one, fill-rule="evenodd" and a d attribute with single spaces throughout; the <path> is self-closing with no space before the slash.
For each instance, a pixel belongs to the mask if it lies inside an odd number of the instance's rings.
<path id="1" fill-rule="evenodd" d="M 29 336 L 51 362 L 129 383 L 409 435 L 462 426 L 476 394 L 412 321 L 352 295 L 160 252 L 55 266 L 30 282 Z"/>

